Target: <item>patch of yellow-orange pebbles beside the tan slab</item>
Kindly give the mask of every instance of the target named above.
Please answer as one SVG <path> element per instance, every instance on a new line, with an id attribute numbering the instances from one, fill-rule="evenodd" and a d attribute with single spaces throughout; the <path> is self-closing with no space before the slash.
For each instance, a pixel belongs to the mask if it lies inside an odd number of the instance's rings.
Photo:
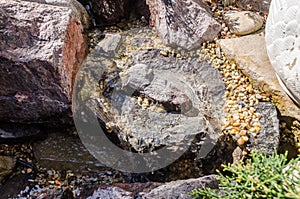
<path id="1" fill-rule="evenodd" d="M 261 115 L 256 112 L 254 105 L 266 98 L 238 70 L 238 64 L 228 59 L 216 46 L 217 42 L 207 42 L 203 44 L 201 53 L 208 54 L 208 60 L 220 70 L 223 81 L 227 84 L 224 96 L 226 113 L 222 132 L 230 135 L 242 147 L 249 141 L 248 136 L 255 138 L 259 134 Z"/>

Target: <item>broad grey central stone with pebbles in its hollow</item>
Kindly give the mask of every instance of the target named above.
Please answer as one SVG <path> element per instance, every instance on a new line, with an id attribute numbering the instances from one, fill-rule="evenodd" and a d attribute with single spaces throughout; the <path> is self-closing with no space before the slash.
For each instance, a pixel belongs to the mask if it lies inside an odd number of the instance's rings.
<path id="1" fill-rule="evenodd" d="M 143 151 L 150 145 L 178 145 L 201 132 L 212 137 L 220 133 L 224 84 L 212 66 L 196 58 L 189 62 L 165 58 L 159 50 L 138 56 L 121 77 L 127 93 L 113 92 L 111 98 L 114 108 L 120 108 L 116 123 L 124 123 L 130 131 L 121 130 L 120 137 Z M 145 76 L 136 75 L 139 70 L 146 71 Z M 120 96 L 124 100 L 117 104 Z"/>

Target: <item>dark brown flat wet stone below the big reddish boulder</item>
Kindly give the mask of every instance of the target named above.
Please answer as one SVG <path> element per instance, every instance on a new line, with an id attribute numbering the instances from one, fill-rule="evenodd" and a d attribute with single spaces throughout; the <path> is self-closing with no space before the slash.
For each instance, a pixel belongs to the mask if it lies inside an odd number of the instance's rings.
<path id="1" fill-rule="evenodd" d="M 52 133 L 44 141 L 34 143 L 36 160 L 43 168 L 55 170 L 71 169 L 76 173 L 92 173 L 103 169 L 74 135 Z"/>

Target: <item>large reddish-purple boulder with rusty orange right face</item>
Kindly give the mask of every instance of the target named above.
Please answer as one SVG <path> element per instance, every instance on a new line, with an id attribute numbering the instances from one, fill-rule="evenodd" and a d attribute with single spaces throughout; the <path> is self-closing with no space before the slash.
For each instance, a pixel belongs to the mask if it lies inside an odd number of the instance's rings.
<path id="1" fill-rule="evenodd" d="M 0 121 L 70 116 L 74 75 L 87 50 L 87 15 L 72 1 L 40 2 L 0 1 Z"/>

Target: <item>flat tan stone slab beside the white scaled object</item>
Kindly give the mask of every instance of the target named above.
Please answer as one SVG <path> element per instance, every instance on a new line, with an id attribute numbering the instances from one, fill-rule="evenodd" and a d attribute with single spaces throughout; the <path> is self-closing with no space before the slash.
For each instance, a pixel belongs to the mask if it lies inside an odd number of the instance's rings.
<path id="1" fill-rule="evenodd" d="M 222 39 L 220 45 L 225 54 L 237 61 L 239 67 L 258 88 L 272 95 L 272 102 L 282 116 L 300 119 L 300 109 L 283 91 L 276 78 L 267 55 L 263 33 Z"/>

